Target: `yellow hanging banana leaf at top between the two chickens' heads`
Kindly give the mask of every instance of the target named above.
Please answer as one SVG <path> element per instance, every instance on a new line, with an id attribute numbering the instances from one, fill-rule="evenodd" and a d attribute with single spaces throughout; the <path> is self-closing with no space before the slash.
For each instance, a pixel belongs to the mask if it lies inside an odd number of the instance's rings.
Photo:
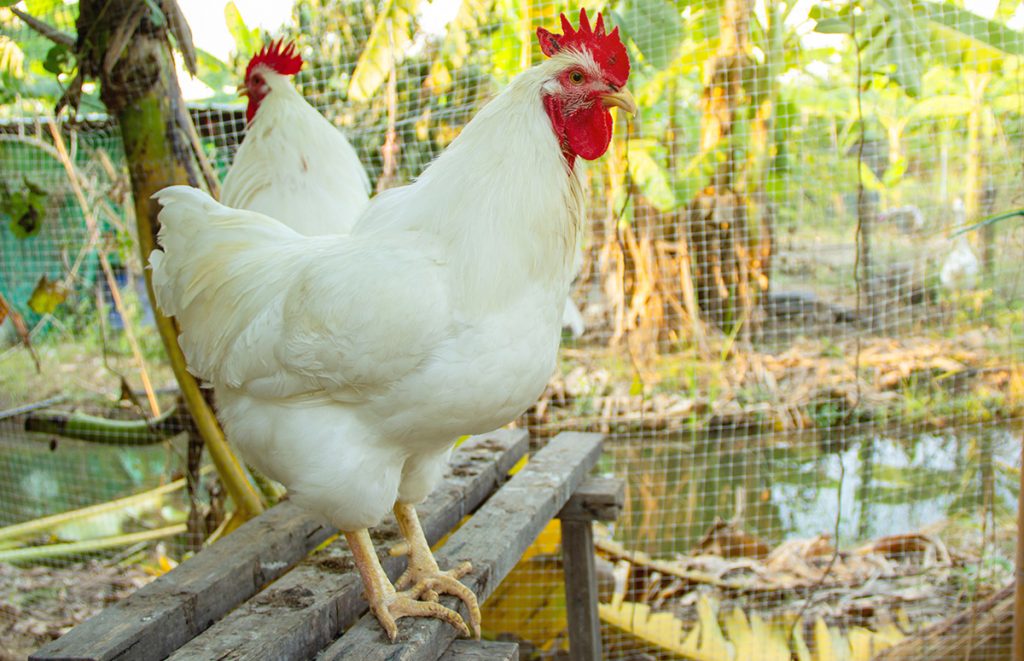
<path id="1" fill-rule="evenodd" d="M 348 98 L 368 101 L 387 80 L 400 53 L 413 42 L 412 17 L 415 0 L 388 0 L 374 21 L 370 38 L 359 53 L 348 85 Z"/>

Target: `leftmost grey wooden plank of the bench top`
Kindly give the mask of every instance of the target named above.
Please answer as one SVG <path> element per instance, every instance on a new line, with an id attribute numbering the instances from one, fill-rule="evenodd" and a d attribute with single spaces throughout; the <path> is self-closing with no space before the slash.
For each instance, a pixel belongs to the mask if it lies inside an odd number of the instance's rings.
<path id="1" fill-rule="evenodd" d="M 39 649 L 31 659 L 163 658 L 334 532 L 295 504 L 282 502 Z"/>

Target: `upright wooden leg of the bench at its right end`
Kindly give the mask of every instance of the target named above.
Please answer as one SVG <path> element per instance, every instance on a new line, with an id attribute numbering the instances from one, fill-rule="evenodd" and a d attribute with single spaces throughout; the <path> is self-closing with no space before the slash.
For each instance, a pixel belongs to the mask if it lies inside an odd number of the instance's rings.
<path id="1" fill-rule="evenodd" d="M 593 526 L 591 521 L 562 519 L 562 567 L 565 571 L 569 661 L 602 658 Z"/>

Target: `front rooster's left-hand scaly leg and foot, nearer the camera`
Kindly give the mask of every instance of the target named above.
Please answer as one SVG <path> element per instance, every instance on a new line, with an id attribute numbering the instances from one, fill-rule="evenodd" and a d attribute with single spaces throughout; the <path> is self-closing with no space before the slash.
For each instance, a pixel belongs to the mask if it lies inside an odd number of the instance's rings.
<path id="1" fill-rule="evenodd" d="M 469 627 L 466 626 L 461 615 L 436 602 L 420 601 L 419 598 L 423 592 L 431 589 L 432 581 L 420 581 L 412 589 L 401 592 L 395 590 L 377 559 L 374 543 L 370 539 L 370 532 L 366 528 L 355 532 L 346 532 L 345 539 L 352 552 L 355 567 L 362 577 L 362 586 L 366 589 L 367 602 L 370 603 L 370 610 L 373 611 L 377 621 L 384 627 L 384 631 L 392 643 L 398 637 L 396 622 L 402 617 L 434 617 L 459 629 L 466 637 L 471 635 Z"/>

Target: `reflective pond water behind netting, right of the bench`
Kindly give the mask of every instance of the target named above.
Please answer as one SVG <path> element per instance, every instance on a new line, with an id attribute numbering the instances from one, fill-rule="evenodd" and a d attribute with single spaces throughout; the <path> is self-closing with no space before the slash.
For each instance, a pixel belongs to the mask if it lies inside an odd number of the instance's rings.
<path id="1" fill-rule="evenodd" d="M 688 552 L 716 518 L 736 519 L 773 545 L 830 534 L 840 501 L 844 545 L 920 530 L 954 514 L 1012 512 L 1019 467 L 1019 432 L 980 427 L 956 435 L 839 439 L 618 436 L 606 443 L 602 461 L 603 470 L 627 479 L 615 536 L 657 556 Z"/>

